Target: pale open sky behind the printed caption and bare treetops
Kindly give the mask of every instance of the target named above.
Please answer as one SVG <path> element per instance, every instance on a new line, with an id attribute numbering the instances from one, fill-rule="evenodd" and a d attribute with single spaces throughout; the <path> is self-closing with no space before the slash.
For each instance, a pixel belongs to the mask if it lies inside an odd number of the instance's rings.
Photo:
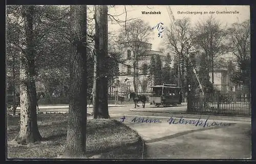
<path id="1" fill-rule="evenodd" d="M 209 16 L 213 16 L 215 19 L 219 20 L 223 25 L 231 25 L 234 22 L 242 22 L 246 19 L 250 19 L 250 6 L 151 6 L 151 5 L 126 5 L 127 11 L 127 19 L 130 18 L 139 18 L 150 24 L 150 26 L 155 26 L 159 22 L 163 23 L 163 27 L 170 23 L 170 18 L 167 12 L 167 8 L 173 12 L 173 16 L 175 19 L 182 19 L 184 17 L 190 18 L 191 25 L 194 26 L 198 21 L 206 20 Z M 111 15 L 120 15 L 116 16 L 120 20 L 125 20 L 125 9 L 123 5 L 109 7 L 108 13 Z M 142 11 L 150 12 L 150 11 L 160 11 L 161 14 L 142 14 Z M 181 12 L 198 12 L 196 14 L 186 14 Z M 217 12 L 222 11 L 232 11 L 239 12 L 237 14 L 218 14 Z M 202 12 L 202 14 L 200 13 Z M 208 13 L 204 13 L 208 12 Z M 210 13 L 215 12 L 215 13 Z M 122 14 L 123 13 L 123 14 Z M 109 32 L 116 32 L 120 29 L 120 25 L 115 23 L 112 24 L 109 21 Z M 164 39 L 164 31 L 162 32 L 162 37 L 158 37 L 158 31 L 156 29 L 153 30 L 151 40 L 152 50 L 158 50 L 161 47 L 161 41 Z"/>

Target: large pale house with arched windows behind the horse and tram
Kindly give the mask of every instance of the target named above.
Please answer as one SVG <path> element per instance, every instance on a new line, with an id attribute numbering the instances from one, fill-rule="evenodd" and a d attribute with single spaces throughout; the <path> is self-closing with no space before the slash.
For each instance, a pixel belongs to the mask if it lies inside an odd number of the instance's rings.
<path id="1" fill-rule="evenodd" d="M 151 63 L 151 58 L 156 56 L 160 56 L 160 60 L 162 61 L 162 65 L 165 64 L 165 61 L 167 61 L 167 53 L 164 53 L 162 51 L 155 51 L 151 50 L 152 44 L 141 42 L 140 47 L 140 54 L 138 56 L 138 79 L 136 80 L 137 86 L 138 86 L 138 93 L 149 93 L 151 91 L 149 86 L 154 85 L 154 77 L 150 75 L 149 66 Z M 119 63 L 119 93 L 125 94 L 127 91 L 134 91 L 134 85 L 133 85 L 133 51 L 131 47 L 124 46 L 122 54 L 121 54 L 121 60 L 123 63 Z M 170 66 L 173 66 L 173 63 L 170 64 Z"/>

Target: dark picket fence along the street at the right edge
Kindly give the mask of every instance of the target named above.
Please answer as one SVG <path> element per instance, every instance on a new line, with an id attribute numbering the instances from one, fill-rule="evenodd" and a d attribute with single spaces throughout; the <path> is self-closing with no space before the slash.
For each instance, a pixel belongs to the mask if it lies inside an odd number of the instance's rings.
<path id="1" fill-rule="evenodd" d="M 251 95 L 248 93 L 189 93 L 188 112 L 219 115 L 251 115 Z"/>

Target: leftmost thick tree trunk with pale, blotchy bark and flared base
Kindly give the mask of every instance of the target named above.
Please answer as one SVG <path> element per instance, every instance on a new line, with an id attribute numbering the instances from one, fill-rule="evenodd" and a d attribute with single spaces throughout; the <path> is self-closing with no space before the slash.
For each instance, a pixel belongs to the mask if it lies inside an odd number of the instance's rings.
<path id="1" fill-rule="evenodd" d="M 37 126 L 35 53 L 33 45 L 34 6 L 23 6 L 25 16 L 26 52 L 20 61 L 20 130 L 15 140 L 20 144 L 41 140 Z"/>

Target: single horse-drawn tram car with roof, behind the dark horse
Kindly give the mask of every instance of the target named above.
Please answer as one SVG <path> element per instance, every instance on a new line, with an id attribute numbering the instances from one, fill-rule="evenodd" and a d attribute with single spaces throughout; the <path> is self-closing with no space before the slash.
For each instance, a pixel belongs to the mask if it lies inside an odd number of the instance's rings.
<path id="1" fill-rule="evenodd" d="M 157 85 L 151 86 L 152 94 L 149 97 L 149 101 L 155 104 L 157 107 L 163 106 L 176 106 L 181 103 L 181 88 L 177 85 Z"/>

